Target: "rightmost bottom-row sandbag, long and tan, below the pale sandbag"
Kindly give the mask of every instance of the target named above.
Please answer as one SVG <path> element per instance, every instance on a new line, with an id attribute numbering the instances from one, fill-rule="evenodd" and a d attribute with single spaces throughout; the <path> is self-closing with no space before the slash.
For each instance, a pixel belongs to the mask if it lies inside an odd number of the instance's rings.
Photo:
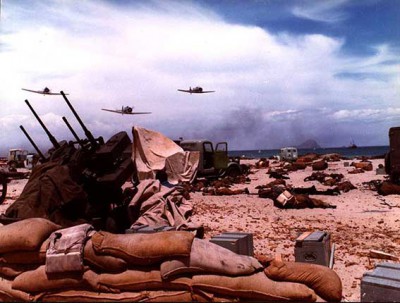
<path id="1" fill-rule="evenodd" d="M 314 291 L 306 285 L 272 281 L 264 272 L 240 277 L 196 275 L 192 278 L 192 289 L 261 301 L 315 302 L 317 299 Z"/>

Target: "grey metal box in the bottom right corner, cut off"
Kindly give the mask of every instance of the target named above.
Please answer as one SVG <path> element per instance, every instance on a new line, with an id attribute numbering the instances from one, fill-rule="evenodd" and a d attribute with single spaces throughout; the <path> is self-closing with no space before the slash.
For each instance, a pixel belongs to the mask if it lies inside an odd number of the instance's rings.
<path id="1" fill-rule="evenodd" d="M 400 302 L 400 264 L 380 263 L 361 279 L 361 302 Z"/>

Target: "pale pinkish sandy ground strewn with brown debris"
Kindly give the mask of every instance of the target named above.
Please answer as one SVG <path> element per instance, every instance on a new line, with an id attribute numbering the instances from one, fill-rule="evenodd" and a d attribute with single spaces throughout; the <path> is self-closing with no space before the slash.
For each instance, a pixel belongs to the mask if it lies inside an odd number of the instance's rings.
<path id="1" fill-rule="evenodd" d="M 347 160 L 346 160 L 347 161 Z M 242 160 L 254 164 L 256 160 Z M 267 169 L 252 169 L 251 182 L 234 188 L 247 187 L 250 195 L 203 196 L 191 194 L 194 204 L 192 222 L 205 227 L 205 238 L 225 231 L 251 232 L 254 235 L 256 254 L 281 254 L 284 260 L 294 261 L 295 239 L 304 231 L 323 230 L 331 234 L 335 244 L 333 269 L 343 283 L 344 301 L 360 301 L 360 283 L 363 273 L 385 260 L 370 258 L 369 250 L 381 250 L 400 257 L 400 195 L 380 196 L 366 189 L 362 182 L 383 180 L 375 168 L 383 159 L 372 160 L 373 170 L 361 174 L 349 174 L 354 167 L 344 166 L 344 161 L 330 162 L 325 173 L 342 173 L 357 187 L 339 196 L 313 196 L 337 206 L 336 209 L 278 209 L 270 199 L 259 198 L 258 185 L 265 185 L 269 178 Z M 328 187 L 317 181 L 304 182 L 312 173 L 311 167 L 289 173 L 288 184 L 294 187 L 317 189 Z M 27 180 L 12 180 L 8 184 L 7 197 L 0 206 L 0 213 L 8 208 L 22 192 Z M 389 261 L 393 262 L 393 261 Z M 399 261 L 397 261 L 399 262 Z"/>

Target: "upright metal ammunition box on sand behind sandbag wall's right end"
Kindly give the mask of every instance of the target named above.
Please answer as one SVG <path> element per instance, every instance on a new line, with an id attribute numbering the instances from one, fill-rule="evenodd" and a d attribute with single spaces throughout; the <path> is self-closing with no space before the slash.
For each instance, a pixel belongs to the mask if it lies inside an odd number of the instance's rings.
<path id="1" fill-rule="evenodd" d="M 296 262 L 329 266 L 330 255 L 330 234 L 327 232 L 305 232 L 296 239 L 294 248 Z"/>

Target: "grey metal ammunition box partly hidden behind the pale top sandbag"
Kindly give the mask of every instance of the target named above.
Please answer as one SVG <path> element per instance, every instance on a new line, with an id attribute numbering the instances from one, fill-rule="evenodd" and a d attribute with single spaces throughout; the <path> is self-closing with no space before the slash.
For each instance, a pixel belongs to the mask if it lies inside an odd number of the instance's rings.
<path id="1" fill-rule="evenodd" d="M 212 237 L 210 242 L 240 255 L 254 256 L 252 233 L 225 232 Z"/>

